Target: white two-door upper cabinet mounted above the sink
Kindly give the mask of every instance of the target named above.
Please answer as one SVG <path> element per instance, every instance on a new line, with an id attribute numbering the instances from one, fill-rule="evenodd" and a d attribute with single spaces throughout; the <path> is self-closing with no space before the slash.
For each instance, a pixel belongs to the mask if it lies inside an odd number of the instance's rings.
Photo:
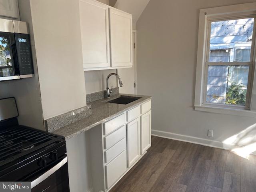
<path id="1" fill-rule="evenodd" d="M 80 0 L 84 70 L 132 66 L 132 15 L 95 0 Z"/>

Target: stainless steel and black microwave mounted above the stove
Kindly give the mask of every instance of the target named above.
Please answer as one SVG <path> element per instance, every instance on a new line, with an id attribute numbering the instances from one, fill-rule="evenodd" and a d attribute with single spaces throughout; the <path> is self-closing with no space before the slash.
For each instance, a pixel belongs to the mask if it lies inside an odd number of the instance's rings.
<path id="1" fill-rule="evenodd" d="M 26 22 L 0 19 L 0 81 L 34 76 Z"/>

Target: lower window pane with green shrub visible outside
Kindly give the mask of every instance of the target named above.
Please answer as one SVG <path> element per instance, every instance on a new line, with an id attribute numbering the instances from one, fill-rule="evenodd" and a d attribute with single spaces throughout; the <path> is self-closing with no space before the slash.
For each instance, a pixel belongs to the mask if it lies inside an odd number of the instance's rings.
<path id="1" fill-rule="evenodd" d="M 249 66 L 208 66 L 206 102 L 245 105 Z"/>

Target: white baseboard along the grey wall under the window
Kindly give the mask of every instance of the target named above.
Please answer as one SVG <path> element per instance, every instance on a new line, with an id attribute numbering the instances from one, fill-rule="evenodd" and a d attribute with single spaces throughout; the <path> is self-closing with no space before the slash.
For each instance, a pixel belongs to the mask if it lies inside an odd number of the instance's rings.
<path id="1" fill-rule="evenodd" d="M 184 142 L 190 142 L 190 143 L 200 144 L 200 145 L 214 147 L 214 148 L 226 149 L 226 150 L 232 150 L 234 148 L 241 147 L 241 146 L 238 146 L 235 144 L 225 144 L 220 141 L 203 139 L 203 138 L 199 138 L 199 137 L 192 137 L 192 136 L 188 136 L 188 135 L 181 135 L 181 134 L 159 131 L 159 130 L 152 130 L 151 133 L 153 136 L 158 136 L 158 137 L 163 137 L 163 138 L 168 138 L 168 139 L 173 139 L 173 140 L 179 140 L 179 141 L 184 141 Z M 253 152 L 252 154 L 256 155 L 256 151 Z"/>

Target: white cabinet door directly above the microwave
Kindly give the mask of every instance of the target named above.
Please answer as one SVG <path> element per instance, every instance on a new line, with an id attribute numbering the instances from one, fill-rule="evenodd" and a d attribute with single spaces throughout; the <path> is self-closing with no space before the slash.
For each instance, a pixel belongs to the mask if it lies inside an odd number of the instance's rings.
<path id="1" fill-rule="evenodd" d="M 0 16 L 18 18 L 17 0 L 0 0 Z"/>

